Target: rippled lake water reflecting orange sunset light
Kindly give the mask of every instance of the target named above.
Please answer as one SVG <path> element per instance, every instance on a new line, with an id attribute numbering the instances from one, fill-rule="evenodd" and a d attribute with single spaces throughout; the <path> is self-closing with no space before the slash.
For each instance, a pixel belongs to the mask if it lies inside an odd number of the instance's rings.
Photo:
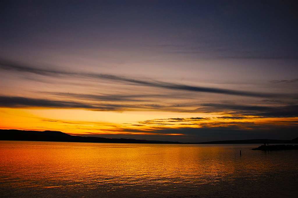
<path id="1" fill-rule="evenodd" d="M 0 141 L 0 197 L 296 197 L 298 151 L 257 146 Z"/>

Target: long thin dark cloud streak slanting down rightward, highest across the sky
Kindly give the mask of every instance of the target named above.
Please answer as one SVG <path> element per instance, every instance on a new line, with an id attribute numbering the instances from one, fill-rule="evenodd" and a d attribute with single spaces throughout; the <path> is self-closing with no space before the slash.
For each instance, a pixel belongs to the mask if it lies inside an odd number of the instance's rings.
<path id="1" fill-rule="evenodd" d="M 93 79 L 105 79 L 119 82 L 129 82 L 134 85 L 142 85 L 149 86 L 155 88 L 164 88 L 171 90 L 181 90 L 181 91 L 192 91 L 192 92 L 205 92 L 205 93 L 219 93 L 219 94 L 227 94 L 227 95 L 237 95 L 237 96 L 250 96 L 250 97 L 277 97 L 281 96 L 280 94 L 272 94 L 272 93 L 258 93 L 251 91 L 237 91 L 237 90 L 229 90 L 229 89 L 221 89 L 221 88 L 210 88 L 210 87 L 200 87 L 200 86 L 190 86 L 183 84 L 176 84 L 170 82 L 162 82 L 162 81 L 148 81 L 142 79 L 133 79 L 128 77 L 121 77 L 110 74 L 96 74 L 96 73 L 76 73 L 71 71 L 57 71 L 57 70 L 49 70 L 43 68 L 34 68 L 30 66 L 24 66 L 19 64 L 13 64 L 8 61 L 0 61 L 0 69 L 7 71 L 18 71 L 18 72 L 28 72 L 32 74 L 38 74 L 43 76 L 69 76 L 69 77 L 81 77 L 81 78 L 93 78 Z"/>

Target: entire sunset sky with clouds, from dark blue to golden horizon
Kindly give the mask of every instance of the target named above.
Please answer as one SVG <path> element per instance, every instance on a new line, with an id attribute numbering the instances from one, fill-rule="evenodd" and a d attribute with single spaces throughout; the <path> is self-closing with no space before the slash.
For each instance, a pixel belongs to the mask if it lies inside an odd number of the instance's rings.
<path id="1" fill-rule="evenodd" d="M 291 1 L 1 1 L 0 128 L 298 137 Z"/>

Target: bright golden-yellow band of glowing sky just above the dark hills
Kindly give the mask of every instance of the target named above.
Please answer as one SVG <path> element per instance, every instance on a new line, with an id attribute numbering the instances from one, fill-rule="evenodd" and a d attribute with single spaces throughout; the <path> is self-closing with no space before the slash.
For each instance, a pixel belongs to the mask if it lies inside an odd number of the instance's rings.
<path id="1" fill-rule="evenodd" d="M 204 119 L 187 120 L 187 118 L 199 117 L 198 115 Z M 159 130 L 185 127 L 202 128 L 206 126 L 235 126 L 250 130 L 252 124 L 260 127 L 266 127 L 267 125 L 292 126 L 297 124 L 298 120 L 298 118 L 259 118 L 254 116 L 229 119 L 228 116 L 228 114 L 154 113 L 151 111 L 149 113 L 145 111 L 118 113 L 76 109 L 1 108 L 0 128 L 40 131 L 58 130 L 73 135 L 184 135 L 183 133 L 160 133 Z M 156 119 L 156 117 L 160 119 Z M 185 120 L 171 120 L 171 118 L 185 118 Z"/>

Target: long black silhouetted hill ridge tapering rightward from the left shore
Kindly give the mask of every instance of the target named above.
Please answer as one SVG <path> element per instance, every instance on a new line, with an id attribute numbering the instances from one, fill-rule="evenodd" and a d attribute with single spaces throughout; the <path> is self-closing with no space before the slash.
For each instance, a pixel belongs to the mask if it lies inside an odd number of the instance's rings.
<path id="1" fill-rule="evenodd" d="M 94 142 L 94 143 L 143 143 L 143 144 L 182 144 L 181 142 L 136 140 L 125 138 L 100 138 L 69 135 L 60 131 L 0 130 L 0 140 L 52 141 L 52 142 Z"/>

